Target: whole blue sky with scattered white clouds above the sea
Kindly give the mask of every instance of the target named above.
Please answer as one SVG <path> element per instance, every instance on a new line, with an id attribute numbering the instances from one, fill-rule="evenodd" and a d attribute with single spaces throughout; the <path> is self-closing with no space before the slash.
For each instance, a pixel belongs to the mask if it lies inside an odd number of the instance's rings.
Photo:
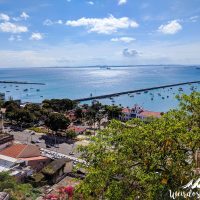
<path id="1" fill-rule="evenodd" d="M 0 0 L 0 67 L 199 63 L 199 0 Z"/>

